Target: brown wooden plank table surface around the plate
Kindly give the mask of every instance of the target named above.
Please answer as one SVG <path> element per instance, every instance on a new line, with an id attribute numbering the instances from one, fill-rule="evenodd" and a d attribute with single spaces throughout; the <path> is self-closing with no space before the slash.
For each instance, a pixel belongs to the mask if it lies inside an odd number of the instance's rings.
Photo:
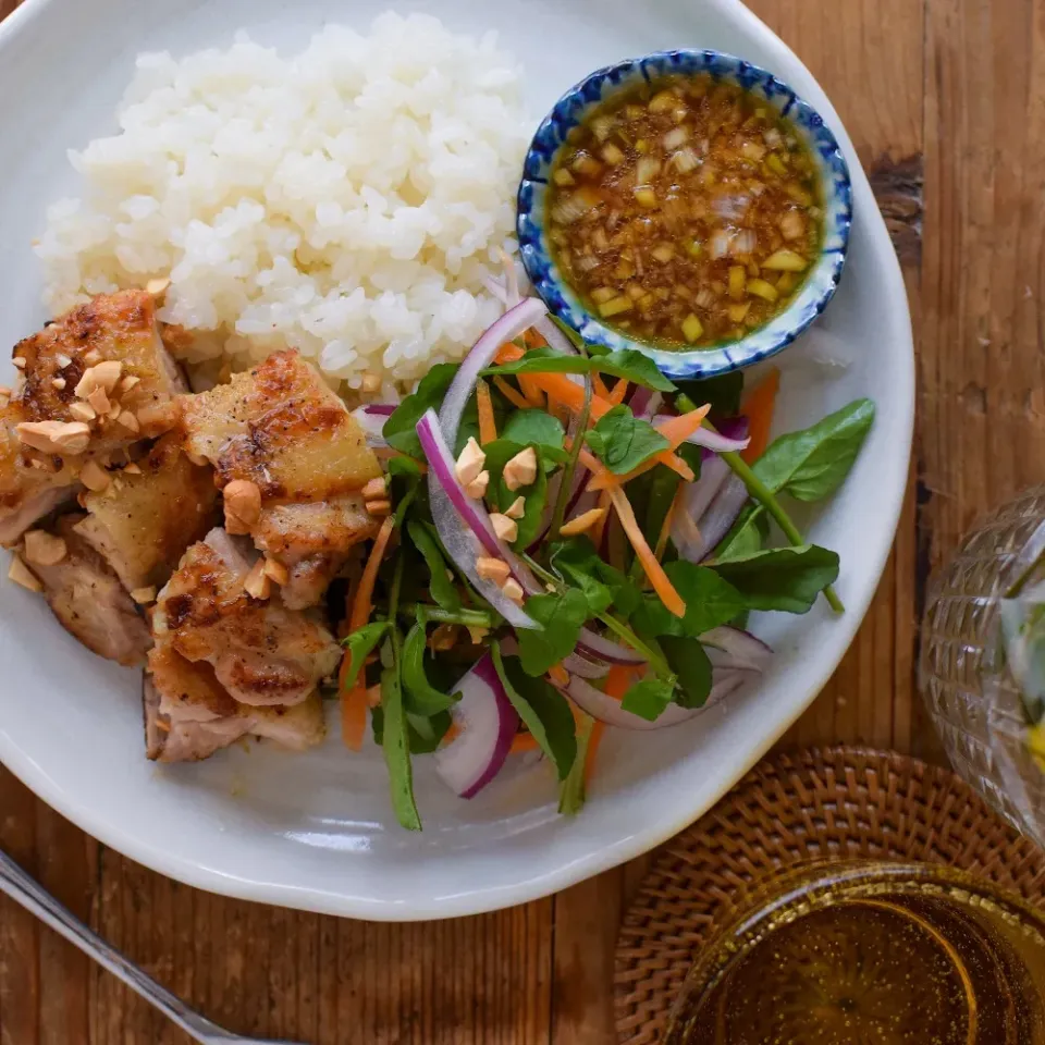
<path id="1" fill-rule="evenodd" d="M 0 16 L 13 7 L 0 0 Z M 893 557 L 857 642 L 784 743 L 937 758 L 913 678 L 929 571 L 980 509 L 1045 478 L 1045 0 L 752 7 L 849 128 L 900 254 L 918 346 L 918 437 Z M 367 924 L 177 885 L 99 846 L 2 769 L 0 846 L 241 1033 L 323 1045 L 615 1041 L 614 938 L 643 861 L 495 914 Z M 0 900 L 0 1045 L 185 1042 Z"/>

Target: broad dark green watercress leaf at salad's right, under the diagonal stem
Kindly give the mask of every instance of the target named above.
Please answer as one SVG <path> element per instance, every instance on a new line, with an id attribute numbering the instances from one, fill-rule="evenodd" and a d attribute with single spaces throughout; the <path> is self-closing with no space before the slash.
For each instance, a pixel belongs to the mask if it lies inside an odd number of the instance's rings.
<path id="1" fill-rule="evenodd" d="M 709 567 L 743 595 L 749 610 L 806 613 L 838 577 L 838 554 L 816 544 L 773 548 Z"/>

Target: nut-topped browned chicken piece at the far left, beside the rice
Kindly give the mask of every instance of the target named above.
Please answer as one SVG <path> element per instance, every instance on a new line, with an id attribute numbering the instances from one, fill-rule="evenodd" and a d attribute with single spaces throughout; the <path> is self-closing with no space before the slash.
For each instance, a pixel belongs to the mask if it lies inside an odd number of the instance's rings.
<path id="1" fill-rule="evenodd" d="M 186 390 L 145 291 L 102 294 L 14 347 L 21 386 L 0 411 L 0 543 L 14 544 L 37 519 L 72 497 L 88 460 L 101 460 L 176 420 L 173 397 Z M 93 366 L 119 362 L 120 380 L 91 418 L 76 388 Z M 95 408 L 91 407 L 91 410 Z M 97 414 L 97 411 L 96 411 Z M 19 426 L 87 426 L 83 448 L 30 446 Z"/>

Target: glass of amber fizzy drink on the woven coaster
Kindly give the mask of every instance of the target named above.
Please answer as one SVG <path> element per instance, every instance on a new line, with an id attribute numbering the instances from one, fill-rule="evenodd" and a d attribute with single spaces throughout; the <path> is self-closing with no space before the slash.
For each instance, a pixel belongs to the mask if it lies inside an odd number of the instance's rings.
<path id="1" fill-rule="evenodd" d="M 664 1045 L 1045 1045 L 1045 918 L 964 872 L 821 861 L 716 923 Z"/>

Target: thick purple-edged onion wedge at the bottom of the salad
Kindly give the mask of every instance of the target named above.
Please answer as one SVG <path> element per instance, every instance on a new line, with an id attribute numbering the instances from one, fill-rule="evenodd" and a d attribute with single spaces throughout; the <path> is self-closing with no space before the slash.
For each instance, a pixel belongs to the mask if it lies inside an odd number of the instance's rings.
<path id="1" fill-rule="evenodd" d="M 501 771 L 519 729 L 493 659 L 487 653 L 457 684 L 451 709 L 459 733 L 435 752 L 435 772 L 455 795 L 474 798 Z"/>

